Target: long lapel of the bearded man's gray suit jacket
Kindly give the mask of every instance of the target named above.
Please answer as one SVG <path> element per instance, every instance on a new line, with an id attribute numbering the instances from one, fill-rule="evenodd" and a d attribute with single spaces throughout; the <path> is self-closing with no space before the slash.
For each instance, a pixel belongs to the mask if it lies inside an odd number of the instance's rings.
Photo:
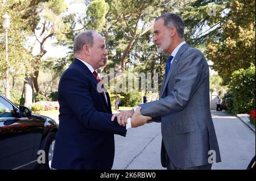
<path id="1" fill-rule="evenodd" d="M 173 59 L 173 61 L 172 61 L 172 64 L 171 64 L 171 68 L 170 68 L 170 70 L 168 71 L 167 76 L 164 76 L 165 78 L 164 78 L 164 80 L 163 80 L 163 84 L 162 84 L 162 87 L 161 87 L 161 90 L 160 90 L 160 97 L 159 97 L 159 98 L 162 98 L 163 92 L 164 92 L 164 90 L 166 89 L 167 83 L 168 83 L 169 80 L 170 80 L 170 77 L 171 77 L 171 75 L 172 75 L 172 73 L 173 73 L 173 70 L 175 69 L 175 66 L 176 66 L 177 62 L 179 61 L 181 54 L 182 54 L 182 53 L 185 51 L 185 49 L 187 49 L 187 48 L 188 48 L 188 44 L 185 43 L 184 45 L 182 45 L 182 46 L 180 47 L 180 49 L 178 50 L 176 56 L 174 57 L 174 59 Z"/>

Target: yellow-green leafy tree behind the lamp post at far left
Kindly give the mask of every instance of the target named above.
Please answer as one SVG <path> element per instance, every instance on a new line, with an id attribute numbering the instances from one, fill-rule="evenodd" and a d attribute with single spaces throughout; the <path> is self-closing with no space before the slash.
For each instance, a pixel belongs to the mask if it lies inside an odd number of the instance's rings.
<path id="1" fill-rule="evenodd" d="M 0 16 L 7 13 L 11 16 L 10 28 L 8 33 L 8 54 L 9 61 L 6 62 L 5 59 L 5 36 L 4 33 L 0 35 L 0 71 L 6 72 L 10 71 L 10 75 L 13 77 L 24 77 L 24 72 L 31 72 L 32 66 L 30 66 L 30 60 L 32 59 L 32 54 L 24 48 L 26 42 L 26 33 L 24 30 L 24 22 L 20 16 L 20 12 L 23 11 L 23 5 L 26 5 L 26 1 L 20 1 L 19 6 L 15 5 L 16 1 L 1 1 L 0 2 Z M 3 30 L 2 23 L 0 25 L 1 30 Z M 2 77 L 7 76 L 3 75 Z M 5 84 L 9 84 L 5 82 Z"/>

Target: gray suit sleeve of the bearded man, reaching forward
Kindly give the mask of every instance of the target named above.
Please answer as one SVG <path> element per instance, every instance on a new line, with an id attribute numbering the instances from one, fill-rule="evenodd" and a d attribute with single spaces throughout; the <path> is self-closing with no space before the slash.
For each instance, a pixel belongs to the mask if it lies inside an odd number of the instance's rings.
<path id="1" fill-rule="evenodd" d="M 208 65 L 203 54 L 196 49 L 188 50 L 182 55 L 181 65 L 175 79 L 174 90 L 168 92 L 168 96 L 155 100 L 154 102 L 140 104 L 141 113 L 144 116 L 156 117 L 168 113 L 175 113 L 183 110 L 200 83 L 207 78 Z"/>

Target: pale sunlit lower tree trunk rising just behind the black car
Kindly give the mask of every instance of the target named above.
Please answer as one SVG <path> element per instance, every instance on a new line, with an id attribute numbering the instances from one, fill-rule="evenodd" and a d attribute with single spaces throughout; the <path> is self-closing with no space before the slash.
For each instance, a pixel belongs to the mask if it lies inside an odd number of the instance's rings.
<path id="1" fill-rule="evenodd" d="M 26 107 L 31 107 L 32 105 L 32 99 L 33 99 L 33 78 L 32 77 L 25 77 L 24 81 L 24 98 L 25 98 L 25 103 L 24 106 Z"/>

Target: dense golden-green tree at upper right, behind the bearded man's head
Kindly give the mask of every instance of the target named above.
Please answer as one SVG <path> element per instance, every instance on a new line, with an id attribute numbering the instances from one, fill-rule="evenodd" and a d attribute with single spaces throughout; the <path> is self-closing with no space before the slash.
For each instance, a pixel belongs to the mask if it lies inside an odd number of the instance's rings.
<path id="1" fill-rule="evenodd" d="M 233 71 L 255 60 L 255 1 L 196 0 L 180 11 L 185 39 L 214 62 L 213 69 L 230 82 Z"/>

